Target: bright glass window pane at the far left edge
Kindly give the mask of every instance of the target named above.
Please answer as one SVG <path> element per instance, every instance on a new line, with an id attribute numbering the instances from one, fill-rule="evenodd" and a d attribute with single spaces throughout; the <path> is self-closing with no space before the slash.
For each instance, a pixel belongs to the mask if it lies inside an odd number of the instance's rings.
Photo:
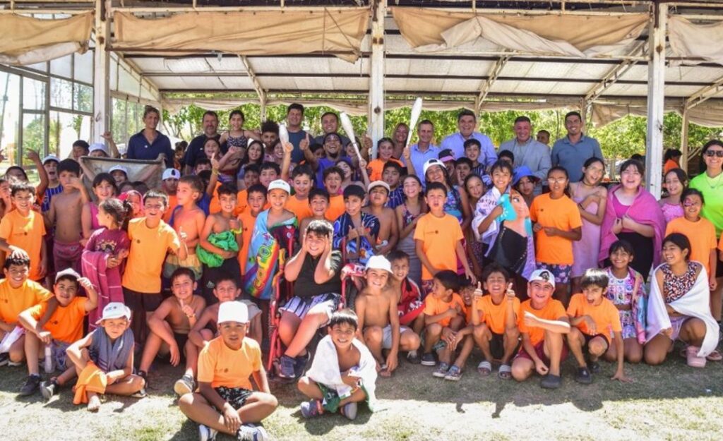
<path id="1" fill-rule="evenodd" d="M 0 101 L 0 152 L 4 156 L 0 167 L 5 169 L 16 162 L 20 135 L 20 117 L 17 114 L 20 107 L 20 77 L 0 72 L 0 96 L 4 98 Z"/>

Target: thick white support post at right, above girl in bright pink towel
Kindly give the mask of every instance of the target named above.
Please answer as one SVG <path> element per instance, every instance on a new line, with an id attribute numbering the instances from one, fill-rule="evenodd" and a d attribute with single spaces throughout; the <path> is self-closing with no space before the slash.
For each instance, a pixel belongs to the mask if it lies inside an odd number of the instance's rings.
<path id="1" fill-rule="evenodd" d="M 655 3 L 648 44 L 648 137 L 646 142 L 646 185 L 660 197 L 663 168 L 663 111 L 665 98 L 665 27 L 667 4 Z"/>

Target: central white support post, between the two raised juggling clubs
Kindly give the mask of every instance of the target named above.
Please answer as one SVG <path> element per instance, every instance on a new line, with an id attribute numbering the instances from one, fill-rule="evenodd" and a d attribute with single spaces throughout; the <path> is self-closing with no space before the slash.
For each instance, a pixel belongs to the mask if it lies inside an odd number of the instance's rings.
<path id="1" fill-rule="evenodd" d="M 384 137 L 384 17 L 386 0 L 375 0 L 372 7 L 372 57 L 369 69 L 369 127 L 372 158 L 377 158 L 377 142 Z"/>

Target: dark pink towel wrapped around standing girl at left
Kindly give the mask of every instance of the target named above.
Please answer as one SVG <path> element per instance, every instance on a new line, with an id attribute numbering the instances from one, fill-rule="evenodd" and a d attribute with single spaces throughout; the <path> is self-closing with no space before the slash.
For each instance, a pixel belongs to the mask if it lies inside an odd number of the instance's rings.
<path id="1" fill-rule="evenodd" d="M 82 255 L 83 276 L 93 283 L 98 291 L 98 307 L 88 313 L 88 329 L 95 329 L 95 322 L 100 319 L 103 308 L 111 301 L 123 303 L 123 287 L 121 286 L 121 266 L 108 268 L 106 257 L 109 254 L 100 251 L 88 251 Z"/>

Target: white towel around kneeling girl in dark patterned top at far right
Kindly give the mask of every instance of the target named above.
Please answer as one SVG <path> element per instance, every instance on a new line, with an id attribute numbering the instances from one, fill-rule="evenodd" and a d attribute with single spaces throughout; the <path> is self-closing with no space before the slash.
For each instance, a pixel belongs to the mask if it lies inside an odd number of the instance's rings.
<path id="1" fill-rule="evenodd" d="M 663 264 L 667 265 L 667 264 Z M 665 301 L 663 300 L 660 286 L 655 279 L 655 273 L 659 270 L 660 265 L 653 271 L 651 278 L 651 289 L 648 297 L 648 327 L 646 328 L 646 343 L 651 341 L 662 330 L 666 330 L 670 325 L 670 316 L 665 309 Z M 701 265 L 703 266 L 703 265 Z M 718 346 L 718 322 L 711 315 L 710 309 L 711 293 L 708 286 L 708 273 L 706 267 L 703 266 L 701 273 L 698 274 L 696 283 L 690 291 L 680 299 L 670 302 L 670 307 L 675 309 L 679 314 L 689 317 L 696 317 L 703 320 L 706 324 L 706 336 L 703 338 L 701 350 L 698 356 L 707 356 Z"/>

